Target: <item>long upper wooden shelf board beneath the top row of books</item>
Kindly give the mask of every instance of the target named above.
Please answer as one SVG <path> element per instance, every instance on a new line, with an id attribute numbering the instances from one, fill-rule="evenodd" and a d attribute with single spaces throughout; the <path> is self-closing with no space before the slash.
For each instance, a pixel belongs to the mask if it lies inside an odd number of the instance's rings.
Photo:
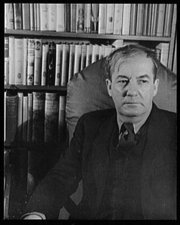
<path id="1" fill-rule="evenodd" d="M 155 36 L 127 36 L 117 34 L 92 34 L 92 33 L 71 33 L 71 32 L 53 32 L 53 31 L 29 31 L 29 30 L 5 30 L 5 36 L 24 36 L 39 38 L 73 38 L 73 39 L 110 39 L 110 40 L 137 40 L 137 41 L 158 41 L 170 42 L 171 37 Z"/>

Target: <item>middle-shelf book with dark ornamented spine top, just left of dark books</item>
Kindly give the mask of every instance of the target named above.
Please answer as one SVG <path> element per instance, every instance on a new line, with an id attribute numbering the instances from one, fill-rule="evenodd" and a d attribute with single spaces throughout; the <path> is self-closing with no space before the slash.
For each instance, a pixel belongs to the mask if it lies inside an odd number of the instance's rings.
<path id="1" fill-rule="evenodd" d="M 34 85 L 41 84 L 42 40 L 35 39 Z"/>

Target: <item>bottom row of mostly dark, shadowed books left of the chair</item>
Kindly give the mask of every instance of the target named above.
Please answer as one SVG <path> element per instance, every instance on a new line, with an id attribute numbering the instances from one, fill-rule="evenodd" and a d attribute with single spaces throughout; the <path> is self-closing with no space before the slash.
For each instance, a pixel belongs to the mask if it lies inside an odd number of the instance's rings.
<path id="1" fill-rule="evenodd" d="M 6 143 L 59 143 L 65 128 L 65 96 L 4 92 Z"/>

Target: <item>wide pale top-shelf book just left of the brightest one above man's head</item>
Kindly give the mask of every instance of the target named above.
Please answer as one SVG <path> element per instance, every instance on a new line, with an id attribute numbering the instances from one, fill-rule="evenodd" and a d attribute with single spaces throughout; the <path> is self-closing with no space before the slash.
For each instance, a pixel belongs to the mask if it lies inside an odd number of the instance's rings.
<path id="1" fill-rule="evenodd" d="M 113 34 L 122 34 L 123 7 L 124 4 L 115 4 Z"/>

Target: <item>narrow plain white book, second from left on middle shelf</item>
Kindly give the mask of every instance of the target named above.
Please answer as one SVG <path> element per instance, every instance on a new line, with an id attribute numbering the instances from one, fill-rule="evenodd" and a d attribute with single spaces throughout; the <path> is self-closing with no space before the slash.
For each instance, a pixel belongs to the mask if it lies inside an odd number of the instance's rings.
<path id="1" fill-rule="evenodd" d="M 9 37 L 9 84 L 15 84 L 15 76 L 14 76 L 14 60 L 15 60 L 15 49 L 14 49 L 14 37 Z"/>

